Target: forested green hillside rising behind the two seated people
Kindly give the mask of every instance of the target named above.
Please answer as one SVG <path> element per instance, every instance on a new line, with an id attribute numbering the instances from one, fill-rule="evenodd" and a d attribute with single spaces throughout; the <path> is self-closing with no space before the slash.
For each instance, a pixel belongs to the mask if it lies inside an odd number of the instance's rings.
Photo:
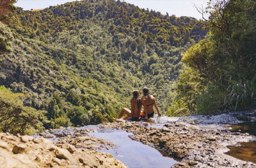
<path id="1" fill-rule="evenodd" d="M 207 33 L 195 18 L 112 0 L 17 9 L 9 28 L 0 26 L 9 37 L 0 85 L 28 95 L 24 105 L 46 110 L 47 128 L 112 121 L 129 107 L 132 90 L 144 86 L 165 113 L 183 53 Z"/>

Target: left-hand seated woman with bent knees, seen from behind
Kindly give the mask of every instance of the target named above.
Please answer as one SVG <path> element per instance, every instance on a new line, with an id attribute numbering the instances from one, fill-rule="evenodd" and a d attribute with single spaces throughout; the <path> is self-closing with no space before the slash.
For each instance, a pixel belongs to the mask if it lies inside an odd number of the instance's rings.
<path id="1" fill-rule="evenodd" d="M 131 98 L 130 103 L 131 103 L 131 110 L 128 108 L 122 108 L 118 119 L 128 119 L 131 117 L 132 120 L 137 120 L 140 118 L 140 113 L 142 109 L 142 102 L 140 100 L 140 93 L 138 90 L 133 91 L 133 98 Z M 123 115 L 126 114 L 124 117 Z M 113 118 L 116 120 L 115 118 Z"/>

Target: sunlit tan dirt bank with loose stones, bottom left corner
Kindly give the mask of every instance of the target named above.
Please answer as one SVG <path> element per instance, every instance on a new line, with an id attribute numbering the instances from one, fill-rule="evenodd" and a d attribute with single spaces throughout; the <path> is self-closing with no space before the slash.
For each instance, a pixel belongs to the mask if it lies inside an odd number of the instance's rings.
<path id="1" fill-rule="evenodd" d="M 32 136 L 13 136 L 0 133 L 0 167 L 4 168 L 122 168 L 122 162 L 110 154 L 68 143 L 53 144 L 49 139 Z"/>

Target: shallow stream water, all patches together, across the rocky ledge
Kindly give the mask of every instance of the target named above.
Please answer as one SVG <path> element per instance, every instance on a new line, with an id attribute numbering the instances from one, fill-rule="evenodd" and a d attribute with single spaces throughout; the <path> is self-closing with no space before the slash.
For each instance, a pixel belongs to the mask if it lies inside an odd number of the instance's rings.
<path id="1" fill-rule="evenodd" d="M 198 125 L 203 129 L 226 129 L 230 132 L 249 133 L 256 136 L 256 112 L 253 113 L 227 113 L 219 115 L 201 115 L 201 116 L 188 116 L 188 117 L 153 117 L 147 122 L 140 121 L 140 125 L 144 127 L 154 127 L 160 129 L 166 123 L 171 122 L 184 122 L 187 124 Z M 145 167 L 145 168 L 170 168 L 178 161 L 161 154 L 157 149 L 148 145 L 144 145 L 141 142 L 134 141 L 129 138 L 132 133 L 127 133 L 124 130 L 107 129 L 100 127 L 99 125 L 88 125 L 85 127 L 77 128 L 93 129 L 96 132 L 89 133 L 91 136 L 95 136 L 101 139 L 108 139 L 117 146 L 107 150 L 100 149 L 113 155 L 116 159 L 128 165 L 129 168 Z M 73 134 L 73 129 L 60 130 L 55 134 Z M 46 133 L 50 134 L 50 133 Z M 50 138 L 55 141 L 58 138 Z M 255 138 L 256 140 L 256 138 Z M 241 142 L 234 146 L 228 146 L 230 151 L 226 152 L 227 155 L 233 156 L 237 159 L 244 161 L 251 161 L 256 163 L 256 141 L 253 142 Z"/>

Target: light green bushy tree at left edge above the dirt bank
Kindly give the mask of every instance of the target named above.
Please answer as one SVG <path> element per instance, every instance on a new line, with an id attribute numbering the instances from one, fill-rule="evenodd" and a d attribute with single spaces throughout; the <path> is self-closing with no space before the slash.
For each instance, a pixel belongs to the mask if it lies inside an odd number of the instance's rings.
<path id="1" fill-rule="evenodd" d="M 0 86 L 0 130 L 13 134 L 35 134 L 44 131 L 46 111 L 23 106 L 27 95 L 12 93 Z"/>

